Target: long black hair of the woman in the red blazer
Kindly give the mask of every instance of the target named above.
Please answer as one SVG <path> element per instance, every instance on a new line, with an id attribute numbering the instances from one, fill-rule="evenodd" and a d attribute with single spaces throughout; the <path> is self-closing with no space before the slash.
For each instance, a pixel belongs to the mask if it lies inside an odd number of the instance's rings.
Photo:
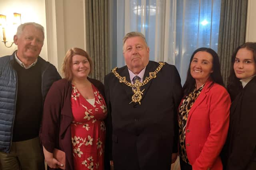
<path id="1" fill-rule="evenodd" d="M 185 96 L 187 96 L 195 88 L 196 80 L 191 76 L 190 64 L 192 62 L 194 55 L 199 51 L 205 51 L 205 52 L 209 53 L 210 55 L 212 55 L 212 70 L 213 70 L 213 72 L 210 74 L 210 77 L 212 78 L 213 82 L 216 82 L 216 83 L 224 86 L 223 79 L 222 79 L 222 76 L 220 73 L 220 61 L 219 61 L 218 54 L 213 49 L 202 47 L 202 48 L 196 49 L 196 51 L 194 51 L 194 53 L 192 54 L 192 56 L 190 58 L 187 78 L 186 78 L 186 82 L 183 86 L 183 92 L 184 92 Z"/>

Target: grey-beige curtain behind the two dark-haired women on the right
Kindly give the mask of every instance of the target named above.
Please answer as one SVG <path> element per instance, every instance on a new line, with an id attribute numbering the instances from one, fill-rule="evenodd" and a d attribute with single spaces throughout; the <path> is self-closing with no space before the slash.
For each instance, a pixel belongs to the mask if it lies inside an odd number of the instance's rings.
<path id="1" fill-rule="evenodd" d="M 227 85 L 231 67 L 231 56 L 245 42 L 248 0 L 222 0 L 218 55 L 224 84 Z"/>

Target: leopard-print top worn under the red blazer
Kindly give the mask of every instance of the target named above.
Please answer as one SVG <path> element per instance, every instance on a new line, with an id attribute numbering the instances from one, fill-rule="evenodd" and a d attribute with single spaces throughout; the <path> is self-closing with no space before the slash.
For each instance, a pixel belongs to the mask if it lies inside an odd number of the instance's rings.
<path id="1" fill-rule="evenodd" d="M 185 138 L 186 138 L 186 125 L 188 120 L 188 113 L 193 106 L 194 102 L 196 101 L 197 97 L 199 96 L 200 92 L 204 88 L 202 85 L 198 90 L 196 88 L 185 96 L 182 100 L 182 104 L 180 105 L 178 115 L 179 115 L 179 138 L 180 138 L 180 158 L 188 163 L 188 157 L 186 154 L 186 146 L 185 146 Z"/>

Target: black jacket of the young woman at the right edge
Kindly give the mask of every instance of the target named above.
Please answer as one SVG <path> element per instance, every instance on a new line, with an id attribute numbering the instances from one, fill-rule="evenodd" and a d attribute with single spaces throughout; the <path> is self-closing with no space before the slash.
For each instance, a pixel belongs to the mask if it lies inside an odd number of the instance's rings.
<path id="1" fill-rule="evenodd" d="M 256 170 L 256 77 L 236 96 L 230 107 L 228 139 L 223 149 L 227 170 Z"/>

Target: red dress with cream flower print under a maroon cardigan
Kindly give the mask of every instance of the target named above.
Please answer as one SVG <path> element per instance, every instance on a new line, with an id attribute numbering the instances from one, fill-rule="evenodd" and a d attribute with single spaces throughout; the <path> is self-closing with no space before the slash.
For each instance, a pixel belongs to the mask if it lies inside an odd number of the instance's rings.
<path id="1" fill-rule="evenodd" d="M 74 121 L 71 124 L 75 170 L 104 170 L 104 144 L 107 115 L 105 101 L 92 84 L 92 106 L 72 84 L 71 108 Z"/>

